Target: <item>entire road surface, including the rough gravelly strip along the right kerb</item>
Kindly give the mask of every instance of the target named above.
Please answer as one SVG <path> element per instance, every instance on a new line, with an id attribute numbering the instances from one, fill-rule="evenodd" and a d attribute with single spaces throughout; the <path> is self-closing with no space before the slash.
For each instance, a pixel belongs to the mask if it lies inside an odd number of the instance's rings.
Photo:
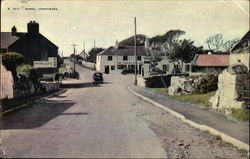
<path id="1" fill-rule="evenodd" d="M 104 74 L 105 83 L 93 85 L 93 71 L 76 69 L 81 79 L 64 81 L 63 94 L 2 118 L 7 157 L 242 156 L 216 137 L 135 97 L 128 91 L 133 75 Z"/>

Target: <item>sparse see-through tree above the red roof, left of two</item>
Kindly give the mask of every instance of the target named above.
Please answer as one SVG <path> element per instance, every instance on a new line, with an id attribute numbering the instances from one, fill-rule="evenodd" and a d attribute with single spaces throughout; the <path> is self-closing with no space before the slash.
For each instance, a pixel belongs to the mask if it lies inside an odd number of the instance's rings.
<path id="1" fill-rule="evenodd" d="M 207 38 L 206 43 L 210 50 L 219 51 L 223 46 L 223 35 L 215 34 Z"/>

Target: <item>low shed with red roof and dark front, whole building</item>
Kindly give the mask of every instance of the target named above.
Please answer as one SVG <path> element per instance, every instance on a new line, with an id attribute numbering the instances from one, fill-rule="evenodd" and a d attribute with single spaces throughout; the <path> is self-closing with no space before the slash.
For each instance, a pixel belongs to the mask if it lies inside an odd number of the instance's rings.
<path id="1" fill-rule="evenodd" d="M 220 73 L 229 65 L 229 55 L 196 54 L 192 72 Z"/>

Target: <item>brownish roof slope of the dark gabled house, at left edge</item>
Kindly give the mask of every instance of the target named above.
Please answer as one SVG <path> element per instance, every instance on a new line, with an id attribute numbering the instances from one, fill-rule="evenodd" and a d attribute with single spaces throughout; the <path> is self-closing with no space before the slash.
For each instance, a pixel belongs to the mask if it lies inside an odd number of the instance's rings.
<path id="1" fill-rule="evenodd" d="M 1 49 L 7 49 L 8 46 L 18 39 L 19 37 L 12 36 L 11 32 L 1 32 Z"/>

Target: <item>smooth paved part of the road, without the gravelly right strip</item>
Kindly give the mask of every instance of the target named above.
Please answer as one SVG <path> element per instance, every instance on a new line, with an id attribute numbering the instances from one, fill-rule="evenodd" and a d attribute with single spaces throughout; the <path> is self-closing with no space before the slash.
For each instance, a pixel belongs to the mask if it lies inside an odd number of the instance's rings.
<path id="1" fill-rule="evenodd" d="M 94 86 L 92 71 L 77 71 L 82 80 L 66 81 L 71 88 L 64 94 L 3 120 L 7 156 L 166 157 L 153 131 L 131 111 L 139 102 L 124 85 L 131 78 L 104 76 L 105 84 Z"/>

